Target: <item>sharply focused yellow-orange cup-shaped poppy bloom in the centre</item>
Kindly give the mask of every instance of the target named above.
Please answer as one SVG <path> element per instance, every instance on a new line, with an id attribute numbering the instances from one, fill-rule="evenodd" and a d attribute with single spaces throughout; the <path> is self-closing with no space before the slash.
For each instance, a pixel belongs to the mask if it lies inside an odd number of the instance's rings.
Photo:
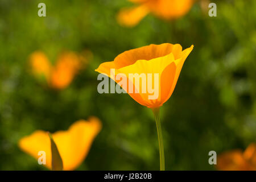
<path id="1" fill-rule="evenodd" d="M 125 51 L 96 71 L 112 78 L 139 104 L 156 108 L 171 97 L 192 49 L 182 50 L 180 44 L 151 44 Z"/>

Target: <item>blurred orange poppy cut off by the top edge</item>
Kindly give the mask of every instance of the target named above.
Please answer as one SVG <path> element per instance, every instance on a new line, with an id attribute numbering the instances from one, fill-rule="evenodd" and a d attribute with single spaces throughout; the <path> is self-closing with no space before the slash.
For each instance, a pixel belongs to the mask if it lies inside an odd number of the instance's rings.
<path id="1" fill-rule="evenodd" d="M 175 19 L 188 13 L 194 0 L 130 0 L 139 3 L 136 7 L 122 9 L 117 20 L 119 24 L 133 27 L 148 13 L 153 13 L 162 19 Z"/>

